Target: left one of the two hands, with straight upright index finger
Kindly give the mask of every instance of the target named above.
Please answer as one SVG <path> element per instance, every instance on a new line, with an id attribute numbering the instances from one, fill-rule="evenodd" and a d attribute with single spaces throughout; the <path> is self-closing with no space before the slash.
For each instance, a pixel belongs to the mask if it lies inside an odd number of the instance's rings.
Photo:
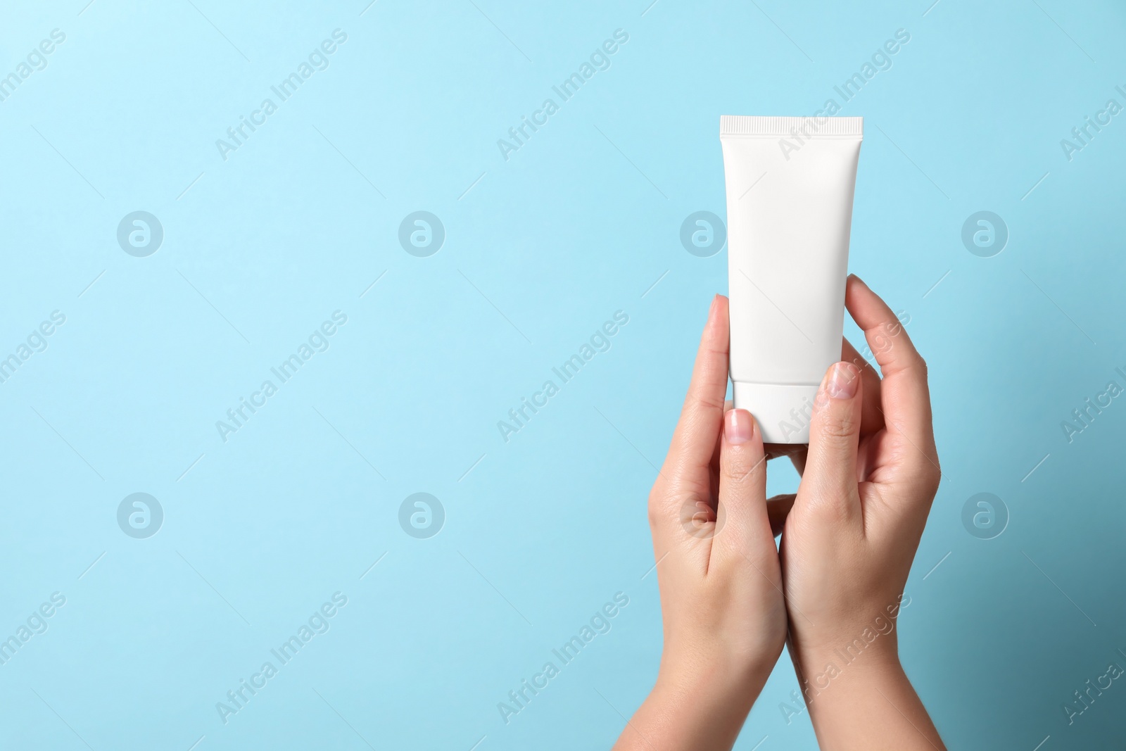
<path id="1" fill-rule="evenodd" d="M 727 298 L 712 301 L 688 396 L 649 497 L 664 650 L 615 746 L 730 749 L 786 640 L 762 436 L 725 410 Z"/>

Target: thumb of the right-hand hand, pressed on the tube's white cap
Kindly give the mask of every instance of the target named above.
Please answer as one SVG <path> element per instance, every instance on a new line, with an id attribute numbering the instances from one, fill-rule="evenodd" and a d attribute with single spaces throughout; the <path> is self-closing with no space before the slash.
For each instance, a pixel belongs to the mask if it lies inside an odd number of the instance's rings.
<path id="1" fill-rule="evenodd" d="M 833 508 L 859 519 L 856 454 L 860 440 L 860 372 L 851 363 L 829 366 L 813 402 L 810 453 L 799 491 L 803 502 Z"/>

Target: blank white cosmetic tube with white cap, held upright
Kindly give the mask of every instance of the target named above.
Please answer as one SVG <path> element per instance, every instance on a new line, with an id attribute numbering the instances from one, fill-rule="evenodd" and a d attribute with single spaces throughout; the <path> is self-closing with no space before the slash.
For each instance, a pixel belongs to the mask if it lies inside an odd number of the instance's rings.
<path id="1" fill-rule="evenodd" d="M 735 406 L 770 444 L 810 442 L 840 359 L 863 117 L 720 118 Z"/>

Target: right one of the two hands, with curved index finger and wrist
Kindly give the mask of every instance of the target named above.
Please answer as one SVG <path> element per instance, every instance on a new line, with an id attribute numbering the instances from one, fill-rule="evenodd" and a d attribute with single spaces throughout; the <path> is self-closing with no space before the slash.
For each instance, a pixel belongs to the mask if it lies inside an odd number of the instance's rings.
<path id="1" fill-rule="evenodd" d="M 940 472 L 927 365 L 856 277 L 846 303 L 861 358 L 829 368 L 781 537 L 789 647 L 823 748 L 941 749 L 900 667 L 895 619 Z M 785 502 L 785 501 L 779 501 Z"/>

